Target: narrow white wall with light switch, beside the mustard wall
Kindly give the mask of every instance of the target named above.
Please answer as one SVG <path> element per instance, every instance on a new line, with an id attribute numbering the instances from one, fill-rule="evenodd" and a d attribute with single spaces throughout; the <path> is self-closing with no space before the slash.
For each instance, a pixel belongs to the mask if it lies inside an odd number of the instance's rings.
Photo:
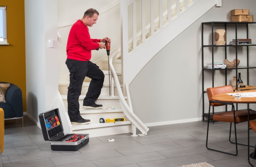
<path id="1" fill-rule="evenodd" d="M 25 0 L 27 115 L 58 107 L 57 0 Z M 48 48 L 48 40 L 54 48 Z M 39 125 L 40 126 L 40 125 Z"/>

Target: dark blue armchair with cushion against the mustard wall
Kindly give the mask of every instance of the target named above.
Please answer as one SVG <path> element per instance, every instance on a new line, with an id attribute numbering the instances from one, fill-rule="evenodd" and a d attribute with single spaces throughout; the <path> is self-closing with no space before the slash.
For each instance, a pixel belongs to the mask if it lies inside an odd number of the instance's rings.
<path id="1" fill-rule="evenodd" d="M 23 102 L 21 89 L 17 85 L 11 83 L 6 91 L 5 100 L 6 102 L 0 102 L 0 108 L 4 110 L 5 120 L 22 118 L 23 128 Z"/>

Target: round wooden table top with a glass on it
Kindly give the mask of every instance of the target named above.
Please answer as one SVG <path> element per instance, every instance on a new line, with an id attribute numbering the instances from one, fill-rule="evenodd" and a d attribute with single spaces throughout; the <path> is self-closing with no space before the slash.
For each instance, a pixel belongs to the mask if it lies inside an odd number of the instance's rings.
<path id="1" fill-rule="evenodd" d="M 243 92 L 256 92 L 256 89 L 241 91 L 241 93 Z M 230 93 L 235 93 L 235 92 L 230 92 Z M 236 99 L 234 96 L 227 95 L 226 93 L 212 96 L 212 99 L 214 101 L 231 102 L 231 103 L 256 103 L 256 97 L 246 97 L 246 98 Z"/>

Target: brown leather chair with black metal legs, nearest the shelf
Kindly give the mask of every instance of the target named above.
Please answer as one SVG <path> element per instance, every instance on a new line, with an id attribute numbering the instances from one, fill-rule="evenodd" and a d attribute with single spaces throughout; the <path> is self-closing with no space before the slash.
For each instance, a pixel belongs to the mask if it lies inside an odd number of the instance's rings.
<path id="1" fill-rule="evenodd" d="M 248 121 L 248 110 L 235 110 L 234 104 L 233 103 L 227 103 L 227 102 L 215 102 L 212 99 L 212 96 L 215 95 L 219 95 L 222 93 L 232 93 L 233 92 L 233 88 L 231 87 L 231 85 L 227 85 L 227 86 L 222 86 L 222 87 L 213 87 L 213 88 L 207 88 L 207 95 L 208 95 L 208 99 L 209 99 L 209 113 L 208 113 L 208 125 L 207 125 L 207 136 L 206 136 L 206 148 L 208 150 L 213 150 L 213 151 L 218 151 L 221 153 L 226 153 L 226 154 L 230 154 L 230 155 L 234 155 L 236 156 L 238 151 L 237 151 L 237 144 L 240 145 L 245 145 L 245 144 L 241 144 L 241 143 L 237 143 L 237 134 L 236 134 L 236 126 L 235 124 L 237 123 L 242 123 L 245 121 Z M 227 111 L 227 112 L 220 112 L 220 113 L 214 113 L 214 107 L 215 106 L 224 106 L 224 105 L 231 105 L 231 111 Z M 235 149 L 236 149 L 236 153 L 229 153 L 229 152 L 225 152 L 225 151 L 220 151 L 220 150 L 215 150 L 212 148 L 208 147 L 208 134 L 209 134 L 209 122 L 210 122 L 210 109 L 211 106 L 213 107 L 213 113 L 212 113 L 212 119 L 213 119 L 213 123 L 214 121 L 222 121 L 222 122 L 230 122 L 230 129 L 229 129 L 229 142 L 231 143 L 235 143 Z M 256 115 L 252 112 L 250 112 L 250 120 L 255 120 L 256 119 Z M 235 142 L 231 141 L 231 128 L 232 128 L 232 123 L 234 123 L 234 131 L 235 131 Z"/>

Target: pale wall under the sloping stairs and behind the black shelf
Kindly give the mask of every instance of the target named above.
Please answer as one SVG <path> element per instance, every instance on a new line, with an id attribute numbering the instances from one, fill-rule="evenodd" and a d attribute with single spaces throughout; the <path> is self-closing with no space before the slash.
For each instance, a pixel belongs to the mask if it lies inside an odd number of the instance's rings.
<path id="1" fill-rule="evenodd" d="M 201 120 L 201 22 L 230 21 L 232 9 L 250 9 L 250 15 L 256 15 L 253 6 L 256 6 L 255 0 L 222 0 L 222 7 L 210 9 L 147 63 L 130 84 L 133 111 L 147 126 Z M 253 26 L 249 31 L 250 38 L 254 41 L 256 27 Z M 231 41 L 231 38 L 227 41 Z M 221 56 L 219 60 L 223 61 L 223 51 L 217 51 Z M 255 46 L 250 47 L 250 63 L 254 65 L 255 51 Z M 234 52 L 231 49 L 228 52 L 233 54 L 228 58 L 232 61 Z M 244 49 L 239 52 L 244 52 Z M 244 56 L 239 59 L 241 63 L 245 63 Z M 242 72 L 242 80 L 245 82 L 246 74 Z M 228 74 L 230 83 L 235 72 Z M 215 80 L 219 80 L 215 86 L 224 85 L 220 78 L 222 77 L 215 75 Z M 212 81 L 209 79 L 208 83 L 211 85 Z M 255 70 L 250 73 L 250 85 L 256 85 Z M 207 99 L 207 95 L 205 98 Z M 206 110 L 208 111 L 208 107 Z"/>

